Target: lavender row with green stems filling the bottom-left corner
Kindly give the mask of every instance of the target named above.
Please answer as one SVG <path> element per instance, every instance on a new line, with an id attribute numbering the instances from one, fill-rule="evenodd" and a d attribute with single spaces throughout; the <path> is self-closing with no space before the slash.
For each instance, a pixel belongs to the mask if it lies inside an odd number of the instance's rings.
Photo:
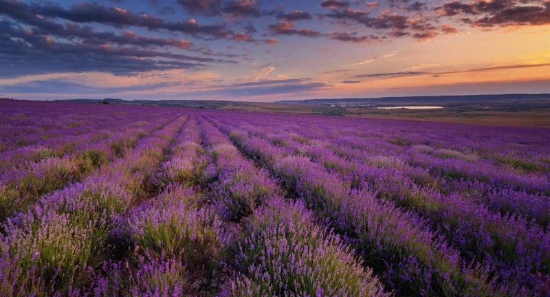
<path id="1" fill-rule="evenodd" d="M 94 270 L 115 251 L 111 233 L 119 214 L 151 184 L 179 118 L 137 143 L 97 175 L 47 195 L 8 219 L 1 235 L 2 294 L 78 296 L 90 294 Z"/>

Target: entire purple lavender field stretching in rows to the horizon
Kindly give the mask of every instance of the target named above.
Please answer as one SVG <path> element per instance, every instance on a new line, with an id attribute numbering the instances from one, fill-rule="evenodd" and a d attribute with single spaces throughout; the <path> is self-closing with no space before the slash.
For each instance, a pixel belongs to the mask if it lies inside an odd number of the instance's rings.
<path id="1" fill-rule="evenodd" d="M 0 296 L 550 296 L 550 129 L 0 100 Z"/>

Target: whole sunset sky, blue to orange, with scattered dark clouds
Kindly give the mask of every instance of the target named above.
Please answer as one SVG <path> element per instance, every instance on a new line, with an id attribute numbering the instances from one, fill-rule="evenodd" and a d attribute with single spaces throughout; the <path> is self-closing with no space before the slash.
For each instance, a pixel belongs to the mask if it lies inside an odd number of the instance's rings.
<path id="1" fill-rule="evenodd" d="M 0 0 L 0 97 L 550 93 L 549 0 Z"/>

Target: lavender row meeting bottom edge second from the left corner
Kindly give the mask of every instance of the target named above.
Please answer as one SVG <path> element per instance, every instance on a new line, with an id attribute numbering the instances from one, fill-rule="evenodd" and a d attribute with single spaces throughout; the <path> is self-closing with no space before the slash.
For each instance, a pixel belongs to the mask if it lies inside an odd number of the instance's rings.
<path id="1" fill-rule="evenodd" d="M 154 174 L 159 194 L 122 217 L 118 236 L 131 254 L 107 265 L 96 296 L 196 296 L 219 274 L 225 231 L 200 189 L 189 188 L 197 184 L 188 173 L 201 175 L 190 168 L 201 164 L 199 137 L 190 115 Z"/>

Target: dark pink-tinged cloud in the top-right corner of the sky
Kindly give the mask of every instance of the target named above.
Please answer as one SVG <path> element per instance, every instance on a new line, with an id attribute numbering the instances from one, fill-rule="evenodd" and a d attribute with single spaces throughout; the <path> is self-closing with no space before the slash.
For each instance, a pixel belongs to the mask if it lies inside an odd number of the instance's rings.
<path id="1" fill-rule="evenodd" d="M 550 1 L 452 1 L 435 8 L 445 17 L 459 17 L 479 27 L 545 25 L 550 23 Z"/>

